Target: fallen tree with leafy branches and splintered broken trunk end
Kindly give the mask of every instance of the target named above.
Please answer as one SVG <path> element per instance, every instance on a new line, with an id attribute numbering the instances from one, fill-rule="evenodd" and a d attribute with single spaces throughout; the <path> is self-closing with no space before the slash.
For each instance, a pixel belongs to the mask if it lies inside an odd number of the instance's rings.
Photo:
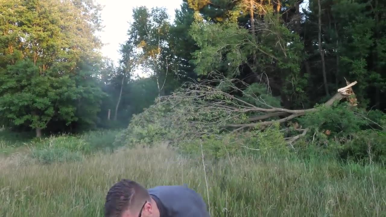
<path id="1" fill-rule="evenodd" d="M 258 84 L 248 85 L 238 79 L 229 79 L 212 73 L 205 81 L 187 82 L 172 95 L 159 97 L 156 104 L 136 115 L 129 125 L 124 139 L 133 134 L 135 139 L 147 139 L 157 134 L 159 139 L 178 142 L 183 139 L 199 138 L 222 132 L 243 133 L 253 130 L 264 131 L 267 127 L 284 124 L 317 107 L 291 110 L 270 105 L 272 96 L 263 93 Z M 337 90 L 323 106 L 329 107 L 344 98 L 351 106 L 357 105 L 352 86 L 356 81 Z M 260 86 L 261 87 L 261 86 Z M 288 124 L 287 124 L 288 125 Z M 285 138 L 290 147 L 310 130 L 294 125 L 298 134 Z M 138 136 L 139 135 L 139 136 Z M 139 142 L 138 140 L 129 142 Z"/>

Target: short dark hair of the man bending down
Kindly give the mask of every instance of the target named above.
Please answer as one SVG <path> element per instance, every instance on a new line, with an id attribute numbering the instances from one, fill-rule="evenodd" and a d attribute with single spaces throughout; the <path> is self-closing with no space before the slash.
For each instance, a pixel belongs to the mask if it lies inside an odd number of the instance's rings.
<path id="1" fill-rule="evenodd" d="M 105 217 L 120 217 L 129 208 L 139 210 L 145 200 L 150 200 L 146 188 L 135 181 L 122 179 L 107 192 Z"/>

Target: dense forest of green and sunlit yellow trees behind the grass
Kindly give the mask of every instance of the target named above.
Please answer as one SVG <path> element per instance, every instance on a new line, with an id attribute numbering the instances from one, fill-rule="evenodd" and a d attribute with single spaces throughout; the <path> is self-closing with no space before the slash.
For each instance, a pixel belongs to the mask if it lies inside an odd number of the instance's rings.
<path id="1" fill-rule="evenodd" d="M 173 22 L 165 8 L 133 8 L 119 64 L 99 51 L 101 5 L 3 0 L 0 10 L 0 123 L 14 131 L 40 137 L 132 120 L 132 134 L 162 120 L 164 131 L 202 138 L 294 119 L 302 133 L 285 134 L 292 143 L 316 132 L 384 129 L 379 0 L 184 0 Z M 136 78 L 138 69 L 149 76 Z M 345 86 L 344 96 L 337 91 Z"/>

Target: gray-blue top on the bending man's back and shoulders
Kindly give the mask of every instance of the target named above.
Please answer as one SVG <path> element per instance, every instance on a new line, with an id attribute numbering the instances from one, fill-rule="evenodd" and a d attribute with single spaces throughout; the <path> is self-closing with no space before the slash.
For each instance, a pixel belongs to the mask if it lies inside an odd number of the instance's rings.
<path id="1" fill-rule="evenodd" d="M 202 197 L 186 186 L 157 186 L 150 188 L 149 194 L 156 196 L 156 202 L 159 199 L 161 210 L 165 209 L 161 217 L 210 217 Z"/>

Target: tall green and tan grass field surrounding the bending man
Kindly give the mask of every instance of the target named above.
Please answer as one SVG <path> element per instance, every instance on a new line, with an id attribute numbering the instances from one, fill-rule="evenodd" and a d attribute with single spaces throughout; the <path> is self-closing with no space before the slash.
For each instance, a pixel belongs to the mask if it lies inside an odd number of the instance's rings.
<path id="1" fill-rule="evenodd" d="M 203 154 L 206 173 L 201 156 L 159 146 L 44 166 L 3 158 L 0 216 L 103 216 L 105 195 L 121 178 L 147 188 L 186 183 L 209 201 L 213 217 L 386 216 L 386 171 L 376 165 L 274 154 L 214 163 Z"/>

